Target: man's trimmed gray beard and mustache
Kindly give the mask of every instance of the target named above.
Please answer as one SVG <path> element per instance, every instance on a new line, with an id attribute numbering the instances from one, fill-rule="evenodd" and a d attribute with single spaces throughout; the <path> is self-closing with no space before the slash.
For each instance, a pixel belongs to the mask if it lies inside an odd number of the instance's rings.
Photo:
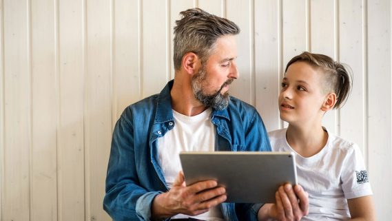
<path id="1" fill-rule="evenodd" d="M 205 81 L 205 74 L 205 67 L 202 67 L 202 69 L 192 78 L 192 89 L 194 90 L 195 98 L 207 108 L 212 107 L 214 109 L 225 109 L 227 105 L 229 105 L 229 93 L 226 92 L 225 94 L 220 94 L 220 92 L 222 91 L 223 87 L 229 85 L 233 79 L 226 81 L 222 87 L 220 87 L 220 90 L 214 94 L 207 95 L 203 92 L 203 81 Z"/>

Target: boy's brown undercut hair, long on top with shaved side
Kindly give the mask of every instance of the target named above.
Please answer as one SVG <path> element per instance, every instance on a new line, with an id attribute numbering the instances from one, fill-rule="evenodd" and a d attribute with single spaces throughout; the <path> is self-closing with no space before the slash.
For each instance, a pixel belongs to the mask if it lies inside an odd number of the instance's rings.
<path id="1" fill-rule="evenodd" d="M 351 71 L 348 65 L 342 65 L 333 61 L 331 57 L 324 54 L 313 54 L 310 52 L 302 52 L 302 54 L 293 57 L 287 63 L 285 73 L 289 66 L 297 61 L 304 61 L 313 67 L 319 67 L 324 72 L 324 92 L 334 92 L 336 94 L 336 105 L 334 109 L 342 107 L 347 100 L 351 91 Z M 347 67 L 347 68 L 346 68 Z"/>

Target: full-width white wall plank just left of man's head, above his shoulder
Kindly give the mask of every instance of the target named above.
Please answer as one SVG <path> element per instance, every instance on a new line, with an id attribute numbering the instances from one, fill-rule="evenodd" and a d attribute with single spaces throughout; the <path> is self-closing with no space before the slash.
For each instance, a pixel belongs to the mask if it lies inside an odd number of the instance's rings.
<path id="1" fill-rule="evenodd" d="M 143 1 L 143 97 L 161 92 L 170 78 L 167 0 Z"/>

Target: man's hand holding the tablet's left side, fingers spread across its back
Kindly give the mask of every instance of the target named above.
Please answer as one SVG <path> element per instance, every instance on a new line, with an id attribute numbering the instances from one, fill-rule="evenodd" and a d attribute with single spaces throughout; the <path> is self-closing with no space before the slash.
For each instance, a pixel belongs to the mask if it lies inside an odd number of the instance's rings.
<path id="1" fill-rule="evenodd" d="M 152 219 L 168 218 L 178 213 L 186 215 L 205 213 L 210 208 L 225 202 L 227 198 L 225 193 L 225 188 L 218 187 L 215 180 L 197 182 L 186 187 L 184 174 L 180 171 L 172 189 L 154 198 Z"/>

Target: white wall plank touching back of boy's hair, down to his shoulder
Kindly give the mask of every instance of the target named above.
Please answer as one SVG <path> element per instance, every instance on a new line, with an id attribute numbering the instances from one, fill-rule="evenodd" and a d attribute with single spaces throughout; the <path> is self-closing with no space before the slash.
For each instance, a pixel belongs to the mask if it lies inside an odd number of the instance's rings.
<path id="1" fill-rule="evenodd" d="M 347 103 L 340 109 L 340 136 L 366 149 L 366 93 L 364 79 L 364 21 L 361 1 L 339 1 L 339 60 L 353 71 L 353 89 Z"/>

